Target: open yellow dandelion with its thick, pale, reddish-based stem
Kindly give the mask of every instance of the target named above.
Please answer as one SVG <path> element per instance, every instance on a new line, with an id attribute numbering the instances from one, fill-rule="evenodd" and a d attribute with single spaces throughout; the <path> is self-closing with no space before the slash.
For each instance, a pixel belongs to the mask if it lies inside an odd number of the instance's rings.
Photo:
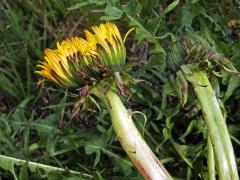
<path id="1" fill-rule="evenodd" d="M 80 90 L 74 115 L 85 99 L 101 100 L 109 111 L 117 139 L 140 173 L 146 179 L 171 179 L 138 132 L 120 97 L 129 95 L 121 76 L 126 36 L 122 39 L 117 26 L 110 22 L 93 26 L 92 30 L 84 31 L 86 39 L 73 37 L 57 43 L 57 49 L 46 49 L 45 60 L 37 65 L 36 73 L 45 77 L 40 82 L 50 80 L 63 88 Z"/>

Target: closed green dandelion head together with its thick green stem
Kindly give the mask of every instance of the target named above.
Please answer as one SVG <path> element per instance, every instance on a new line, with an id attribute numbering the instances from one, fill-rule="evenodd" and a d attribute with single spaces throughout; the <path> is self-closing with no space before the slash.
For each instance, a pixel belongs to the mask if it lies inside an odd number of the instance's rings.
<path id="1" fill-rule="evenodd" d="M 181 104 L 184 106 L 187 103 L 190 90 L 196 95 L 208 130 L 208 147 L 213 148 L 213 153 L 208 150 L 208 160 L 215 159 L 219 179 L 238 180 L 224 107 L 209 80 L 210 76 L 219 76 L 223 71 L 237 74 L 236 69 L 229 60 L 213 51 L 206 40 L 194 33 L 184 36 L 182 42 L 178 41 L 171 47 L 167 63 Z M 215 179 L 213 166 L 214 162 L 208 162 L 209 178 Z"/>

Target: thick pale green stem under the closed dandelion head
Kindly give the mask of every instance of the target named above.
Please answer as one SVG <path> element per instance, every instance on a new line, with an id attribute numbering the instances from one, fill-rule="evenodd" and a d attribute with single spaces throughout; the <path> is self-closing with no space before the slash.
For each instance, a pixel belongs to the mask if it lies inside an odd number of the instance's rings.
<path id="1" fill-rule="evenodd" d="M 193 74 L 186 74 L 185 76 L 192 82 L 194 91 L 201 104 L 202 113 L 217 160 L 219 178 L 221 180 L 239 180 L 227 125 L 207 75 L 202 71 L 198 71 Z"/>

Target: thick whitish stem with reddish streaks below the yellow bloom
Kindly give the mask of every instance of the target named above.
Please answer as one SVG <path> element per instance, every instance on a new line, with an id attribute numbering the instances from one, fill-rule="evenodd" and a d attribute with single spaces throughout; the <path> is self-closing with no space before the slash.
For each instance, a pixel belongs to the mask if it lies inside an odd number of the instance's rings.
<path id="1" fill-rule="evenodd" d="M 117 138 L 140 173 L 145 179 L 172 179 L 140 135 L 120 97 L 112 90 L 106 95 L 110 101 L 109 113 Z"/>

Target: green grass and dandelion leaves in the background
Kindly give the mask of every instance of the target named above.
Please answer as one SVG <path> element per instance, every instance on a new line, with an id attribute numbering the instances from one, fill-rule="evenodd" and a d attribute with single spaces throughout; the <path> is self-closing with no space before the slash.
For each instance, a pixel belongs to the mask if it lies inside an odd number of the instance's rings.
<path id="1" fill-rule="evenodd" d="M 144 80 L 131 86 L 127 102 L 145 140 L 176 179 L 207 179 L 207 129 L 194 97 L 180 107 L 166 67 L 169 44 L 186 30 L 205 37 L 240 68 L 239 1 L 54 1 L 0 3 L 0 154 L 80 172 L 27 169 L 0 161 L 2 179 L 141 179 L 116 141 L 107 112 L 97 109 L 71 119 L 76 92 L 34 74 L 42 51 L 83 29 L 114 21 L 127 39 L 130 73 Z M 240 167 L 239 77 L 210 77 L 224 100 L 228 129 Z M 87 177 L 85 176 L 87 175 Z"/>

